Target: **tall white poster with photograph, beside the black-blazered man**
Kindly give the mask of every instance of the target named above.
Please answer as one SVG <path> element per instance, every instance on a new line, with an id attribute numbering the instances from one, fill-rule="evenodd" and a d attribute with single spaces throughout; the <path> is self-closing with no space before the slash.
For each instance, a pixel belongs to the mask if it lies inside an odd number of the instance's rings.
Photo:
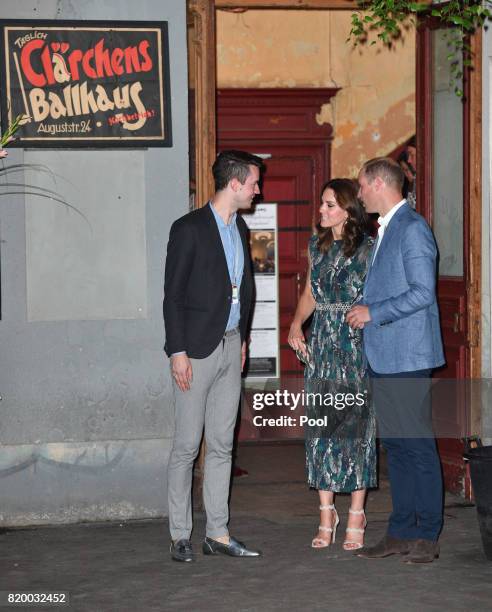
<path id="1" fill-rule="evenodd" d="M 280 365 L 277 205 L 257 204 L 243 218 L 250 230 L 256 285 L 248 378 L 275 378 Z"/>

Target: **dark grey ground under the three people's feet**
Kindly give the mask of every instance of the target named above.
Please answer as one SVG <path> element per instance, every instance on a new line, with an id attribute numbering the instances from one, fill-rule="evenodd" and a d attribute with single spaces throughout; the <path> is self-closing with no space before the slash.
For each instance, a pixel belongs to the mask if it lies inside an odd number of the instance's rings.
<path id="1" fill-rule="evenodd" d="M 171 561 L 165 520 L 19 529 L 0 535 L 0 591 L 69 591 L 70 606 L 61 609 L 89 612 L 492 610 L 492 562 L 475 508 L 462 500 L 446 500 L 437 562 L 359 559 L 341 547 L 348 496 L 337 499 L 335 545 L 310 548 L 317 495 L 305 485 L 302 445 L 242 446 L 237 462 L 250 475 L 232 488 L 230 529 L 261 548 L 261 559 L 204 557 L 201 513 L 193 564 Z M 383 535 L 390 507 L 383 480 L 367 503 L 368 543 Z"/>

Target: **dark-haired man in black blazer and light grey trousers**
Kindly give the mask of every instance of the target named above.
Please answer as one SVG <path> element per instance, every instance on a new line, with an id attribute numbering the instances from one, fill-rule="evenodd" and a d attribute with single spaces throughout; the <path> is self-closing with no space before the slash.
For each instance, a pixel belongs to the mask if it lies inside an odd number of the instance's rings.
<path id="1" fill-rule="evenodd" d="M 262 161 L 223 151 L 212 172 L 215 194 L 171 227 L 164 282 L 166 352 L 175 393 L 168 467 L 169 527 L 175 561 L 192 561 L 193 462 L 205 431 L 204 554 L 257 557 L 229 536 L 231 454 L 253 298 L 247 226 L 239 210 L 260 193 Z"/>

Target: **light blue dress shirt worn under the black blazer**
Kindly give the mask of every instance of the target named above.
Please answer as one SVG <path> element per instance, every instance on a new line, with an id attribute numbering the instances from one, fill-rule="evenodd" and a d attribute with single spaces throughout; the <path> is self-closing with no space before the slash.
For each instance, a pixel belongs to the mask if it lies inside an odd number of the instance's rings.
<path id="1" fill-rule="evenodd" d="M 239 300 L 239 289 L 241 288 L 241 281 L 243 278 L 244 271 L 244 251 L 243 243 L 241 241 L 241 235 L 236 225 L 236 215 L 234 213 L 229 225 L 224 222 L 222 217 L 217 213 L 212 203 L 209 203 L 212 212 L 214 213 L 215 221 L 219 229 L 220 238 L 222 240 L 222 246 L 224 247 L 224 253 L 227 261 L 227 269 L 229 270 L 229 278 L 231 284 L 237 285 L 238 290 L 238 303 L 231 304 L 231 311 L 229 313 L 229 320 L 227 321 L 226 331 L 234 329 L 239 325 L 239 319 L 241 318 L 241 303 Z"/>

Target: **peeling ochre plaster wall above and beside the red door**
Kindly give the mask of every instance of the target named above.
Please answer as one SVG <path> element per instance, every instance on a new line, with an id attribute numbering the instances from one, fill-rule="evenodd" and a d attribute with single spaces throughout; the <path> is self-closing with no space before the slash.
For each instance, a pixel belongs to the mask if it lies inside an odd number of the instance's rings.
<path id="1" fill-rule="evenodd" d="M 319 120 L 334 127 L 332 176 L 354 175 L 415 133 L 415 33 L 388 50 L 353 48 L 350 11 L 217 12 L 218 87 L 341 87 Z"/>

